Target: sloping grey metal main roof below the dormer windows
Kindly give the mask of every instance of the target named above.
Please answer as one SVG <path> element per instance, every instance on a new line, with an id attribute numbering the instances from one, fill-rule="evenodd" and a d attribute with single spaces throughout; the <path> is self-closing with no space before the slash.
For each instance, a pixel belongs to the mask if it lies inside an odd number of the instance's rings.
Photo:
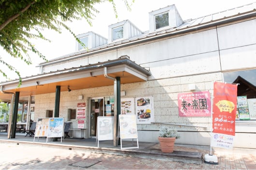
<path id="1" fill-rule="evenodd" d="M 62 57 L 55 58 L 48 62 L 42 62 L 40 65 L 47 65 L 52 62 L 63 61 L 63 60 L 70 60 L 71 58 L 81 57 L 81 55 L 90 55 L 94 52 L 102 52 L 102 50 L 108 50 L 120 46 L 128 46 L 131 43 L 140 43 L 142 41 L 152 40 L 161 38 L 163 36 L 170 36 L 170 35 L 177 35 L 182 34 L 184 32 L 190 32 L 194 29 L 206 28 L 217 24 L 224 24 L 227 22 L 240 20 L 242 18 L 248 18 L 251 16 L 256 16 L 256 2 L 243 5 L 237 8 L 232 8 L 227 11 L 217 12 L 206 16 L 201 16 L 195 19 L 185 20 L 183 24 L 174 27 L 174 28 L 167 28 L 165 30 L 155 31 L 155 32 L 143 32 L 139 36 L 132 37 L 130 39 L 125 39 L 109 44 L 102 45 L 97 48 L 88 49 L 85 51 L 78 51 L 71 54 L 64 55 Z"/>

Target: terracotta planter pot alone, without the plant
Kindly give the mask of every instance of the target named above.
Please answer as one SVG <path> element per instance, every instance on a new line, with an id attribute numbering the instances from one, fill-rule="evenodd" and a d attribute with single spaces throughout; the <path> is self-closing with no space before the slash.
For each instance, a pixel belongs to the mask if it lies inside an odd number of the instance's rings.
<path id="1" fill-rule="evenodd" d="M 175 137 L 158 137 L 161 151 L 163 153 L 172 153 L 174 149 Z"/>

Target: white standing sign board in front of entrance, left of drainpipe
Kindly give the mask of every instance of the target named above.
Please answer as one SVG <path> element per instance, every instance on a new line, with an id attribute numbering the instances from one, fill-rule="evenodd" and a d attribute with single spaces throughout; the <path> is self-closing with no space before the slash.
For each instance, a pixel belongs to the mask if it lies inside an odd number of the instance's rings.
<path id="1" fill-rule="evenodd" d="M 114 117 L 98 116 L 97 118 L 98 147 L 101 140 L 114 140 Z"/>

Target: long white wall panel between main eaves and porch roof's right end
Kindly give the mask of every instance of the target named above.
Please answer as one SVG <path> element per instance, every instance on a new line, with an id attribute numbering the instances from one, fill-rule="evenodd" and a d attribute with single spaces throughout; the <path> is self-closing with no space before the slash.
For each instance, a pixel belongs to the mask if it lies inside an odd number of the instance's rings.
<path id="1" fill-rule="evenodd" d="M 210 40 L 210 41 L 209 41 Z M 218 50 L 216 30 L 207 30 L 118 50 L 137 64 L 162 61 Z"/>

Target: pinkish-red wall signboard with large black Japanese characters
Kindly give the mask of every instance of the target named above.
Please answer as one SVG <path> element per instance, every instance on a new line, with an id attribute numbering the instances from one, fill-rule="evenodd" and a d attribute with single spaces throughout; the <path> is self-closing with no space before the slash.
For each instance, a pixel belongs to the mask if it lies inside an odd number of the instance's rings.
<path id="1" fill-rule="evenodd" d="M 209 91 L 179 93 L 179 116 L 211 116 L 211 95 Z"/>

